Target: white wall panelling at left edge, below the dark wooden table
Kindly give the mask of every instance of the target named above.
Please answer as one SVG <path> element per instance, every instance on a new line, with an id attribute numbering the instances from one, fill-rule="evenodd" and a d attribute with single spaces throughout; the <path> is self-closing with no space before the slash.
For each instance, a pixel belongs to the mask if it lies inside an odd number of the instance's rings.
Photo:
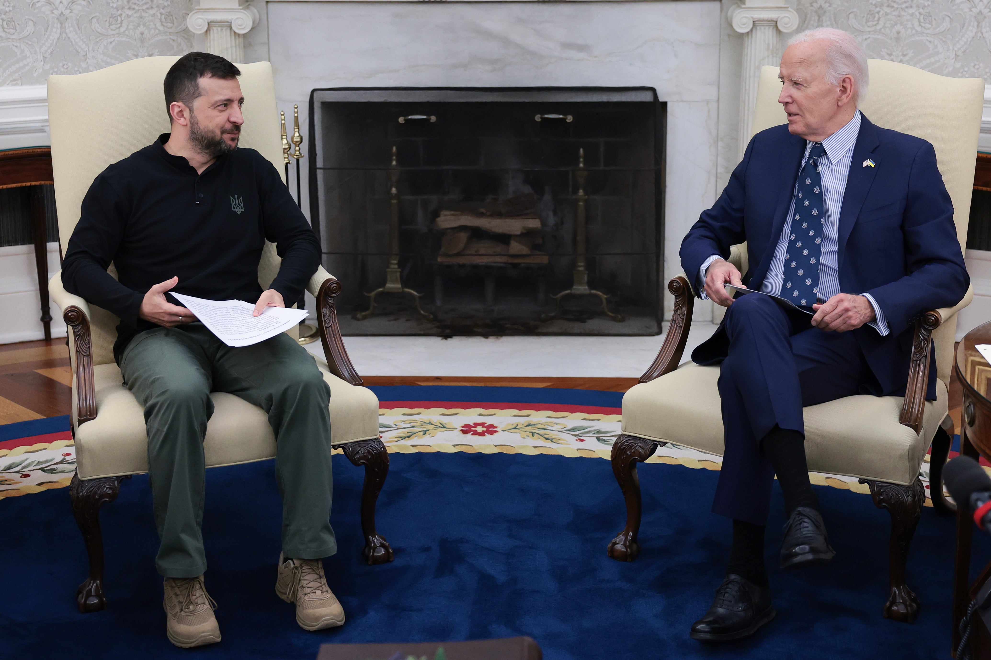
<path id="1" fill-rule="evenodd" d="M 49 277 L 58 272 L 58 243 L 49 243 Z M 52 304 L 52 336 L 65 336 L 61 310 Z M 0 247 L 0 343 L 44 339 L 34 245 Z"/>

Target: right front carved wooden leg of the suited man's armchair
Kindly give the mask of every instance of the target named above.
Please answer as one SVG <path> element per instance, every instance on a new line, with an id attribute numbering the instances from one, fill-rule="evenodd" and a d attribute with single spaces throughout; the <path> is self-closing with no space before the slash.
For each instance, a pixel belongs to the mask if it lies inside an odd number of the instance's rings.
<path id="1" fill-rule="evenodd" d="M 919 615 L 919 599 L 905 584 L 905 564 L 909 558 L 909 546 L 926 503 L 926 489 L 919 477 L 908 486 L 883 481 L 861 479 L 870 488 L 874 506 L 887 509 L 891 514 L 891 542 L 888 561 L 891 576 L 891 595 L 884 606 L 884 615 L 896 621 L 912 623 Z"/>

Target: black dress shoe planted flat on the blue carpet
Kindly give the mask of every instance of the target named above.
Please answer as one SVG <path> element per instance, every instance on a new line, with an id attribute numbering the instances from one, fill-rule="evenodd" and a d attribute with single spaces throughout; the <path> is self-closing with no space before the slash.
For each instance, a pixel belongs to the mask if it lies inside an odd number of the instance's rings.
<path id="1" fill-rule="evenodd" d="M 748 637 L 774 618 L 771 588 L 758 587 L 729 574 L 716 589 L 716 600 L 705 616 L 692 624 L 692 639 L 729 641 Z"/>

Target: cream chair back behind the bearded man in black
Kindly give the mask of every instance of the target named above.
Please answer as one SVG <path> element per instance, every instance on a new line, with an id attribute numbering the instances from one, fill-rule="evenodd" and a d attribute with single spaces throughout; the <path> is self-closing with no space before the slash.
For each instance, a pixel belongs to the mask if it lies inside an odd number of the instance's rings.
<path id="1" fill-rule="evenodd" d="M 49 77 L 49 124 L 55 206 L 62 251 L 79 221 L 82 198 L 108 165 L 168 133 L 163 82 L 177 56 L 143 57 L 78 75 Z M 275 84 L 269 62 L 239 64 L 245 96 L 241 145 L 257 149 L 282 171 L 281 134 Z M 259 264 L 263 288 L 278 271 L 275 245 L 266 245 Z M 111 265 L 110 272 L 116 276 Z M 286 301 L 287 303 L 289 301 Z M 94 364 L 114 361 L 118 319 L 90 306 Z M 73 351 L 74 352 L 74 351 Z"/>

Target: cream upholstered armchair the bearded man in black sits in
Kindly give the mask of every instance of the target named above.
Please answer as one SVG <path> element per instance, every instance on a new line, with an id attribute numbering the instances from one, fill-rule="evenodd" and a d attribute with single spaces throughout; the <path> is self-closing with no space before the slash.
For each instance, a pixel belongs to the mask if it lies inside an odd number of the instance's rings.
<path id="1" fill-rule="evenodd" d="M 63 250 L 96 175 L 168 132 L 162 81 L 177 58 L 146 57 L 91 73 L 49 78 L 55 203 Z M 281 169 L 272 66 L 258 62 L 240 68 L 246 99 L 241 145 L 257 149 Z M 275 245 L 269 243 L 258 270 L 263 288 L 275 279 L 278 265 Z M 110 272 L 114 273 L 112 266 Z M 320 337 L 329 359 L 317 358 L 317 363 L 331 390 L 331 442 L 352 463 L 365 465 L 361 505 L 365 559 L 369 564 L 385 563 L 392 560 L 392 550 L 375 528 L 376 501 L 388 473 L 388 454 L 379 439 L 379 400 L 361 387 L 362 379 L 344 349 L 334 310 L 340 283 L 321 267 L 307 290 L 316 297 Z M 117 497 L 122 479 L 148 471 L 148 437 L 143 409 L 123 386 L 114 362 L 118 319 L 66 292 L 61 273 L 52 278 L 51 291 L 71 329 L 71 422 L 77 469 L 69 495 L 89 554 L 89 577 L 79 586 L 76 602 L 80 612 L 96 612 L 106 607 L 99 509 Z M 207 466 L 275 457 L 275 435 L 261 408 L 232 394 L 218 392 L 211 398 L 215 412 L 203 442 Z"/>

